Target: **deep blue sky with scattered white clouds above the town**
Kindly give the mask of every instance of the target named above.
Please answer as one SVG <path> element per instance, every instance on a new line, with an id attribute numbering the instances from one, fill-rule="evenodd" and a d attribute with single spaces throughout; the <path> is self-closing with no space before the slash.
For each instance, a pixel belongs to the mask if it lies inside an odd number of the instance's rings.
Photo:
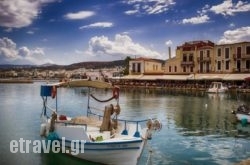
<path id="1" fill-rule="evenodd" d="M 0 64 L 166 60 L 196 40 L 250 42 L 250 0 L 0 0 Z"/>

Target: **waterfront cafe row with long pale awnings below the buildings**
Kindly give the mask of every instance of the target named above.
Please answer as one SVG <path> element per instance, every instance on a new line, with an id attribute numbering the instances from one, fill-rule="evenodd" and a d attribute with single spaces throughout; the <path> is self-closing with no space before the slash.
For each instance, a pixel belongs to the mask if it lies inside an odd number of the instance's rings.
<path id="1" fill-rule="evenodd" d="M 189 74 L 189 75 L 127 75 L 112 78 L 120 86 L 207 88 L 213 81 L 220 81 L 230 87 L 243 84 L 250 88 L 250 74 Z"/>

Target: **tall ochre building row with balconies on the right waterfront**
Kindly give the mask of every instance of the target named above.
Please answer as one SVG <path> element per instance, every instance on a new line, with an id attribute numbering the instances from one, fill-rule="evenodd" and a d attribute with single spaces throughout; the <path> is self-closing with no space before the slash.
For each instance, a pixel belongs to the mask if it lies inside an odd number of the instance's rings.
<path id="1" fill-rule="evenodd" d="M 224 45 L 208 40 L 185 42 L 165 66 L 165 74 L 250 72 L 250 42 Z"/>

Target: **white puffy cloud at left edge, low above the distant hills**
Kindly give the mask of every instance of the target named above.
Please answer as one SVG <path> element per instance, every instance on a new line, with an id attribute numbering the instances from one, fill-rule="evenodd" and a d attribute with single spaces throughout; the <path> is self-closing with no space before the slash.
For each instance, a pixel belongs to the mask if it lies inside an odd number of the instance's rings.
<path id="1" fill-rule="evenodd" d="M 26 46 L 17 48 L 15 42 L 7 37 L 0 38 L 1 64 L 44 64 L 53 63 L 45 56 L 43 48 L 29 49 Z"/>

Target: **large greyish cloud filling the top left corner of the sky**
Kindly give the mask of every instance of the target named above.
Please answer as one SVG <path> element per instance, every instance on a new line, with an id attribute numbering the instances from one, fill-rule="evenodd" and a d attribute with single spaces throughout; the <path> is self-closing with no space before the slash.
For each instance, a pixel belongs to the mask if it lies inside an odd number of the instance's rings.
<path id="1" fill-rule="evenodd" d="M 0 26 L 22 28 L 29 26 L 40 13 L 44 4 L 56 0 L 1 0 Z"/>

